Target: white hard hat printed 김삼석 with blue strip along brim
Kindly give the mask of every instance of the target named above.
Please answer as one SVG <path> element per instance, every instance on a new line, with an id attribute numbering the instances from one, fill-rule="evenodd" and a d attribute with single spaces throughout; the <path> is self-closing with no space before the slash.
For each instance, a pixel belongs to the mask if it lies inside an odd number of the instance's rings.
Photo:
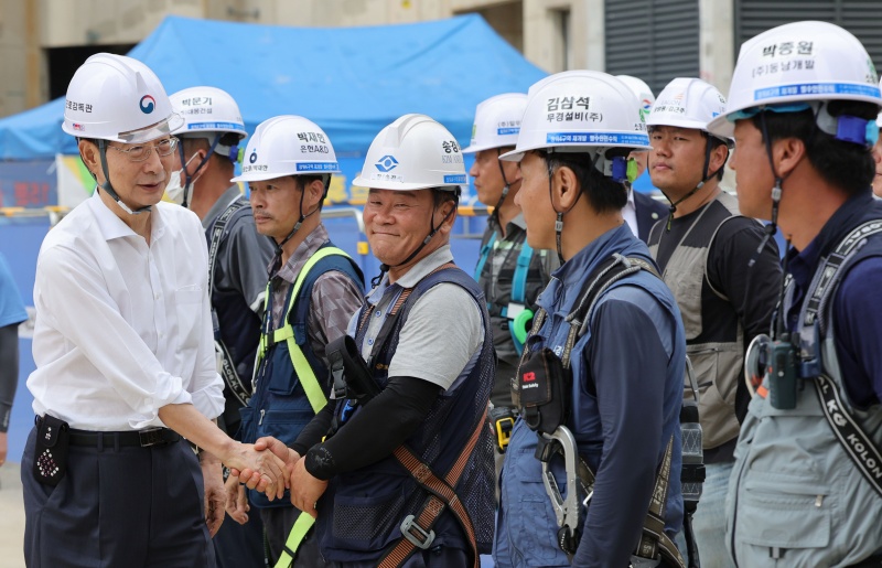
<path id="1" fill-rule="evenodd" d="M 609 148 L 649 149 L 637 97 L 606 73 L 564 71 L 530 87 L 517 146 L 501 158 L 519 161 L 529 150 L 603 153 L 600 149 Z"/>

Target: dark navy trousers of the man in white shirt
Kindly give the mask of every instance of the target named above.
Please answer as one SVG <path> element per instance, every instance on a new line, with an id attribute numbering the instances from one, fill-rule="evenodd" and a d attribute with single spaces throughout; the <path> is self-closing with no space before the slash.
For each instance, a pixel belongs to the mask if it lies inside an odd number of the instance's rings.
<path id="1" fill-rule="evenodd" d="M 198 460 L 169 446 L 72 446 L 55 487 L 31 471 L 36 429 L 22 454 L 24 558 L 30 568 L 215 567 Z"/>

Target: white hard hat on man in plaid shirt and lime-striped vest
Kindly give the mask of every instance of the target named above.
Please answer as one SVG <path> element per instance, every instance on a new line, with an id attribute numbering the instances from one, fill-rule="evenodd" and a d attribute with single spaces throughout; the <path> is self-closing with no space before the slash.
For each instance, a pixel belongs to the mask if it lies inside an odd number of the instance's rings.
<path id="1" fill-rule="evenodd" d="M 245 149 L 241 175 L 232 181 L 257 182 L 338 171 L 334 147 L 324 130 L 303 117 L 282 115 L 257 126 Z"/>

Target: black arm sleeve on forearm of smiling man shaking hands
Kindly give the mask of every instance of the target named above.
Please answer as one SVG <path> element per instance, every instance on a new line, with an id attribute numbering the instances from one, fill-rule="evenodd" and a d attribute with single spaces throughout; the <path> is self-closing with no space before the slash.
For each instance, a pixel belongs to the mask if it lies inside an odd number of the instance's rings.
<path id="1" fill-rule="evenodd" d="M 389 378 L 333 438 L 306 452 L 306 471 L 329 480 L 389 456 L 419 428 L 440 393 L 440 386 L 421 378 Z"/>

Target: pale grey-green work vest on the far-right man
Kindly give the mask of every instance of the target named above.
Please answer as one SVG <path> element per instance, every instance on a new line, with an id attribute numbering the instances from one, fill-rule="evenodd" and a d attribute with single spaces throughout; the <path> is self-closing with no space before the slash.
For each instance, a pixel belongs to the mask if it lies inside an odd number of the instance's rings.
<path id="1" fill-rule="evenodd" d="M 825 272 L 822 265 L 804 303 Z M 828 311 L 837 288 L 838 282 L 822 292 L 820 306 Z M 845 409 L 882 447 L 882 405 L 867 410 L 851 405 L 836 353 L 835 325 L 826 321 L 819 343 L 824 373 L 835 383 Z M 792 410 L 773 408 L 768 398 L 754 396 L 741 429 L 725 512 L 727 543 L 741 568 L 845 567 L 882 549 L 882 499 L 833 435 L 814 381 L 799 383 Z M 763 386 L 768 388 L 766 381 Z"/>

